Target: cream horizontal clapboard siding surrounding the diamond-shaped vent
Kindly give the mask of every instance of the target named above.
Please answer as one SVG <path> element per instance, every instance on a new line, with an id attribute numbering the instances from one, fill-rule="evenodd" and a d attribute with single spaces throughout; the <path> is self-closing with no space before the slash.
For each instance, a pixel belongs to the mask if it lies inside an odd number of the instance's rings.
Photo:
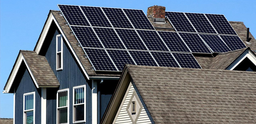
<path id="1" fill-rule="evenodd" d="M 142 97 L 139 93 L 139 91 L 137 90 L 136 86 L 134 85 L 134 83 L 132 83 L 131 87 L 128 88 L 128 94 L 124 97 L 125 101 L 124 103 L 121 104 L 121 109 L 119 112 L 117 112 L 118 114 L 116 115 L 116 120 L 114 120 L 114 124 L 133 124 L 133 122 L 131 121 L 130 116 L 128 115 L 128 112 L 126 111 L 126 107 L 128 106 L 128 103 L 131 99 L 131 96 L 134 92 L 134 90 L 136 91 L 136 94 L 138 95 L 140 102 L 142 103 L 142 111 L 140 112 L 139 118 L 136 121 L 136 124 L 155 124 L 145 103 L 142 100 Z"/>

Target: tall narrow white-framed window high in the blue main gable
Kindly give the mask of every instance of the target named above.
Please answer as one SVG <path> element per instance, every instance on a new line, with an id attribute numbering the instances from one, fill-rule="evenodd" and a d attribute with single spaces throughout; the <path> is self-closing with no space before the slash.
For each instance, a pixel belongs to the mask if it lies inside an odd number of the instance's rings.
<path id="1" fill-rule="evenodd" d="M 56 70 L 62 70 L 63 67 L 63 40 L 62 35 L 56 36 Z"/>

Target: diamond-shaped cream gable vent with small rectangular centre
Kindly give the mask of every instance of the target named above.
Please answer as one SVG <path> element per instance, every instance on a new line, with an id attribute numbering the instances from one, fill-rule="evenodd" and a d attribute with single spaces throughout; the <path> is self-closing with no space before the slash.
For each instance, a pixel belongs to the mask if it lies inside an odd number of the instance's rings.
<path id="1" fill-rule="evenodd" d="M 140 112 L 142 110 L 142 103 L 135 91 L 133 91 L 133 95 L 131 95 L 131 99 L 126 107 L 126 111 L 131 118 L 133 124 L 136 123 L 139 118 Z"/>

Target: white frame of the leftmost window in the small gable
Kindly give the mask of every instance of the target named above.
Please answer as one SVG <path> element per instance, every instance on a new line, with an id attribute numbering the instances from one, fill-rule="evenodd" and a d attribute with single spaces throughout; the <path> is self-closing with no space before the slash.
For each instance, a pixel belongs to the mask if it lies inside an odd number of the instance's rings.
<path id="1" fill-rule="evenodd" d="M 25 96 L 26 95 L 32 95 L 34 96 L 34 101 L 33 101 L 33 109 L 29 109 L 29 110 L 25 110 Z M 27 111 L 31 111 L 33 110 L 33 124 L 35 124 L 35 92 L 28 92 L 28 93 L 25 93 L 23 94 L 23 124 L 26 124 L 26 113 Z"/>

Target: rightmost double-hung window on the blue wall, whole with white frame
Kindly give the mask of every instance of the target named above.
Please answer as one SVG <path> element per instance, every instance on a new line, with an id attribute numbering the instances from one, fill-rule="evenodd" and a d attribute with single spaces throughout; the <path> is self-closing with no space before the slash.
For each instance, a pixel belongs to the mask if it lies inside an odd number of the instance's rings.
<path id="1" fill-rule="evenodd" d="M 85 85 L 73 87 L 73 122 L 85 122 Z"/>

